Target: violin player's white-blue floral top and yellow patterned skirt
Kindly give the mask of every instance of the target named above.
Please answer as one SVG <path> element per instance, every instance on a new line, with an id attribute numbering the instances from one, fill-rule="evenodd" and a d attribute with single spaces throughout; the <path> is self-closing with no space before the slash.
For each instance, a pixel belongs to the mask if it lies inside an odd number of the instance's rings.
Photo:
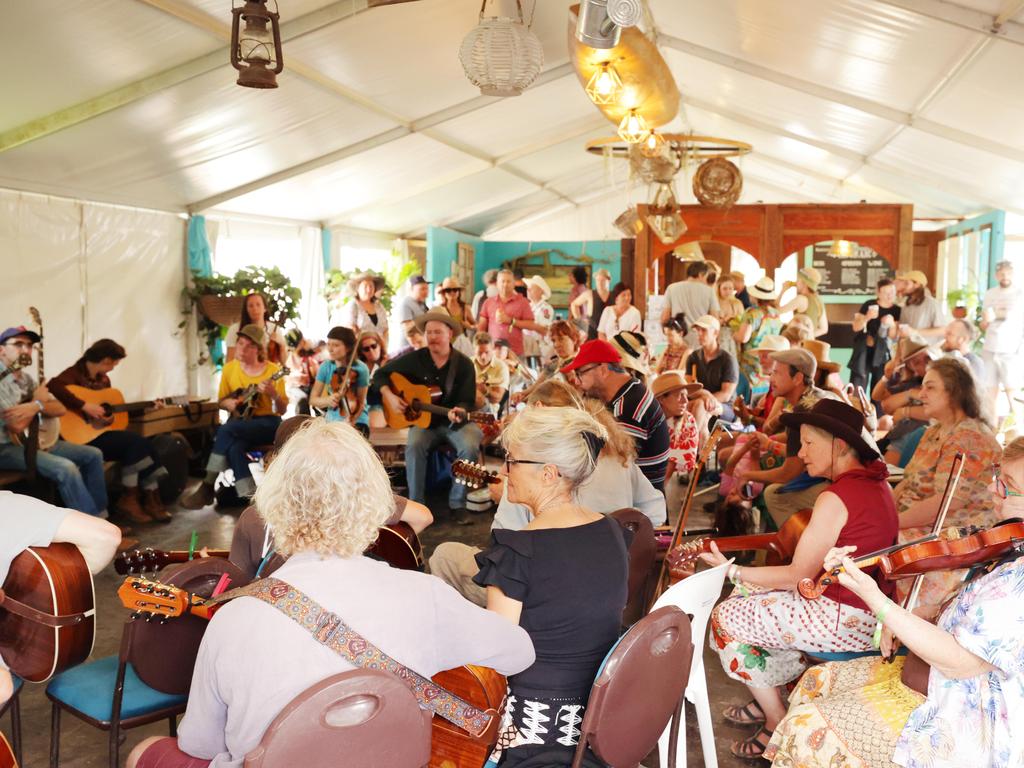
<path id="1" fill-rule="evenodd" d="M 961 680 L 932 669 L 927 698 L 902 658 L 814 667 L 790 696 L 765 757 L 793 768 L 1019 768 L 1024 738 L 1024 558 L 970 582 L 938 626 L 995 669 Z"/>

